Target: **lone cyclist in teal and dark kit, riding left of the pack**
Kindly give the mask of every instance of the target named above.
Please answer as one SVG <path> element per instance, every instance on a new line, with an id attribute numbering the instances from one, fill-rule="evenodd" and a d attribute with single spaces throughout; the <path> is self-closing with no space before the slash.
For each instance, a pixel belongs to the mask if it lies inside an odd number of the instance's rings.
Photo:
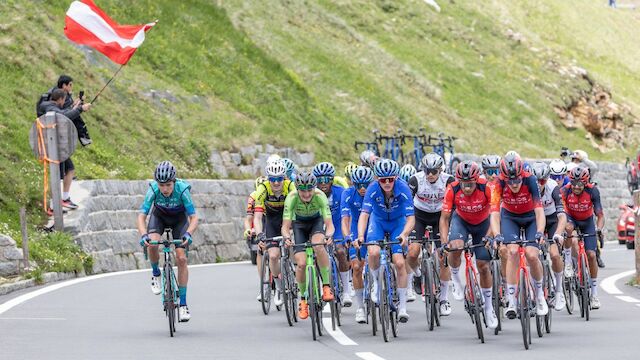
<path id="1" fill-rule="evenodd" d="M 189 269 L 185 249 L 191 244 L 191 235 L 198 227 L 198 216 L 191 199 L 191 185 L 176 178 L 176 168 L 169 161 L 163 161 L 154 172 L 155 181 L 149 184 L 144 202 L 138 214 L 138 232 L 140 245 L 147 246 L 151 262 L 151 291 L 158 295 L 160 289 L 160 253 L 158 245 L 150 245 L 150 241 L 161 241 L 166 228 L 171 228 L 175 240 L 182 239 L 176 246 L 176 265 L 178 266 L 178 293 L 180 296 L 180 321 L 191 319 L 187 307 L 187 283 Z M 153 207 L 153 210 L 152 210 Z M 145 222 L 149 215 L 149 223 Z"/>

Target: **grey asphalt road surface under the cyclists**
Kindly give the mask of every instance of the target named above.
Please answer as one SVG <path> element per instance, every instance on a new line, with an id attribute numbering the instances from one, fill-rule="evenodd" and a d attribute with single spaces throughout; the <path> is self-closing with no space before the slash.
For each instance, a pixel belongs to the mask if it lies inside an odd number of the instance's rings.
<path id="1" fill-rule="evenodd" d="M 605 249 L 599 281 L 634 268 L 633 252 L 614 243 Z M 619 294 L 600 288 L 602 308 L 589 322 L 554 313 L 551 334 L 522 346 L 517 320 L 506 320 L 480 344 L 461 302 L 435 331 L 426 329 L 423 303 L 409 304 L 411 319 L 399 337 L 384 343 L 369 325 L 356 324 L 354 308 L 343 312 L 341 345 L 331 335 L 312 341 L 309 321 L 289 327 L 283 312 L 262 314 L 255 267 L 248 263 L 196 266 L 188 292 L 192 319 L 170 338 L 160 299 L 151 294 L 148 271 L 84 278 L 0 297 L 0 359 L 638 359 L 640 290 L 615 282 Z M 74 280 L 71 280 L 74 281 Z M 609 291 L 613 289 L 607 286 Z M 34 292 L 35 291 L 35 292 Z M 32 298 L 22 301 L 25 296 Z M 633 302 L 635 301 L 635 302 Z"/>

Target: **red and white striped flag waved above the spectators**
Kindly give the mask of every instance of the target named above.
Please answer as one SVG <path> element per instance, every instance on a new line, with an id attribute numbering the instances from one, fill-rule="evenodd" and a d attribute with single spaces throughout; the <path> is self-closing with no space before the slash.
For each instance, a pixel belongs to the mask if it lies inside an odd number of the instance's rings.
<path id="1" fill-rule="evenodd" d="M 64 33 L 69 40 L 92 47 L 113 62 L 124 65 L 142 45 L 144 33 L 155 24 L 120 25 L 93 0 L 81 0 L 71 3 L 67 10 Z"/>

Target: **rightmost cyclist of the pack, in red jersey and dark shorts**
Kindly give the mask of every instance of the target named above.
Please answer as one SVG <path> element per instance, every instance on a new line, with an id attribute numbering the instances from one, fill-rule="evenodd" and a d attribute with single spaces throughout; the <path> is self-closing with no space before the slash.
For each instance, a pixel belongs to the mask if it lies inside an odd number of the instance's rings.
<path id="1" fill-rule="evenodd" d="M 602 236 L 604 227 L 604 212 L 600 203 L 600 191 L 589 183 L 589 169 L 578 166 L 569 172 L 569 185 L 562 188 L 562 200 L 567 213 L 567 234 L 579 228 L 583 234 L 584 246 L 589 259 L 589 273 L 591 275 L 591 308 L 599 309 L 598 299 L 598 266 L 596 261 L 596 237 Z M 594 215 L 596 221 L 594 223 Z M 573 274 L 571 260 L 571 245 L 575 242 L 566 241 L 564 244 L 565 276 Z"/>

